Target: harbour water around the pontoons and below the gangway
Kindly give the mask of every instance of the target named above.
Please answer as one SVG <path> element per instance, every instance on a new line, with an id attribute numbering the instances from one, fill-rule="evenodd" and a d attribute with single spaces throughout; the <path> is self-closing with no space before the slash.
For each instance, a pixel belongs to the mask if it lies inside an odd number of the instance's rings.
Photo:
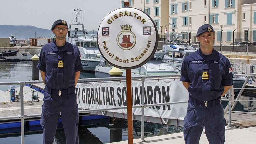
<path id="1" fill-rule="evenodd" d="M 41 76 L 39 76 L 41 77 Z M 80 78 L 94 78 L 94 73 L 82 72 Z M 10 81 L 25 81 L 32 79 L 32 62 L 0 62 L 0 82 Z M 40 78 L 41 79 L 41 78 Z M 18 86 L 18 85 L 17 85 Z M 0 90 L 6 91 L 10 89 L 8 86 L 0 86 Z M 247 93 L 246 93 L 247 94 Z M 254 97 L 248 97 L 248 96 Z M 241 99 L 253 99 L 256 100 L 255 93 L 248 93 L 243 95 Z M 227 105 L 227 101 L 223 102 L 224 107 Z M 238 102 L 234 110 L 237 111 L 251 111 L 256 112 L 255 102 Z M 140 138 L 141 123 L 139 121 L 133 122 L 133 136 Z M 31 131 L 33 130 L 33 131 Z M 152 137 L 156 135 L 164 135 L 176 132 L 182 132 L 183 127 L 169 126 L 155 123 L 145 123 L 145 137 Z M 6 133 L 9 134 L 6 134 Z M 11 132 L 11 133 L 10 133 Z M 0 143 L 20 143 L 20 128 L 0 131 Z M 26 127 L 25 128 L 25 142 L 26 143 L 42 143 L 43 133 L 41 126 Z M 82 121 L 79 125 L 79 142 L 80 143 L 109 143 L 117 142 L 128 139 L 127 133 L 127 121 L 111 121 L 110 118 Z M 65 134 L 60 124 L 58 126 L 56 136 L 56 143 L 66 143 Z"/>

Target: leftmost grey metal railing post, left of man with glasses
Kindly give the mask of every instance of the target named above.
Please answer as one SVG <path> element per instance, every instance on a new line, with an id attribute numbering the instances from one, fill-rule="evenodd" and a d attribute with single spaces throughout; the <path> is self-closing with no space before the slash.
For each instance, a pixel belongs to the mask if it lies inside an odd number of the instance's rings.
<path id="1" fill-rule="evenodd" d="M 23 97 L 23 87 L 24 87 L 24 82 L 23 83 L 20 83 L 19 84 L 19 86 L 20 86 L 20 91 L 21 91 L 21 117 L 20 117 L 20 119 L 21 119 L 21 144 L 24 144 L 25 142 L 24 142 L 24 136 L 25 136 L 25 134 L 24 134 L 24 97 Z"/>

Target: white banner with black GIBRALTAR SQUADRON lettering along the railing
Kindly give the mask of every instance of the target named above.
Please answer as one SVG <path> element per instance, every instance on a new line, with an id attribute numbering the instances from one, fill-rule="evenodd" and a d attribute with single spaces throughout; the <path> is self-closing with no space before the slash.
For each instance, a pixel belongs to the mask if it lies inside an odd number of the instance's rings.
<path id="1" fill-rule="evenodd" d="M 132 105 L 141 104 L 141 81 L 132 81 Z M 78 107 L 82 109 L 102 109 L 124 107 L 126 104 L 126 82 L 95 82 L 77 84 Z M 188 92 L 180 81 L 161 79 L 145 81 L 144 104 L 186 101 Z M 184 118 L 187 103 L 145 108 L 145 115 L 162 118 Z M 127 109 L 111 110 L 127 114 Z M 133 114 L 141 115 L 141 108 L 134 108 Z"/>

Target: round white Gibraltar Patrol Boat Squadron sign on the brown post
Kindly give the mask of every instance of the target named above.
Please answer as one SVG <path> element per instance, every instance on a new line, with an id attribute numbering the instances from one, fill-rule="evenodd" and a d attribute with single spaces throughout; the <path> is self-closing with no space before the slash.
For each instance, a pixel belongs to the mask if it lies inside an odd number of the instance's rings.
<path id="1" fill-rule="evenodd" d="M 151 59 L 157 49 L 158 31 L 143 11 L 127 7 L 112 11 L 101 22 L 99 51 L 111 65 L 134 69 Z"/>

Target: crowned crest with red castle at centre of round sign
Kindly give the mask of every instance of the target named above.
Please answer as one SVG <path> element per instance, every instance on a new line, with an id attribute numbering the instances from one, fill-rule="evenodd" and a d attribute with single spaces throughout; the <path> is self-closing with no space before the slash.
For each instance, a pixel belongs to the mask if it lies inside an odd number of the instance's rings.
<path id="1" fill-rule="evenodd" d="M 117 45 L 123 50 L 130 50 L 136 44 L 136 36 L 131 31 L 132 25 L 120 26 L 122 31 L 117 35 Z"/>

